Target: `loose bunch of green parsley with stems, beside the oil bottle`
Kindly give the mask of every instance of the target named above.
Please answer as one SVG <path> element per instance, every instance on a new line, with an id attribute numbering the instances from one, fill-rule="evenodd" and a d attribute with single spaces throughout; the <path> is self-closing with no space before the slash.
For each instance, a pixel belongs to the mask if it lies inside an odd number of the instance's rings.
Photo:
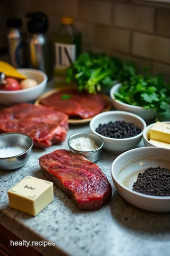
<path id="1" fill-rule="evenodd" d="M 123 62 L 107 54 L 82 53 L 68 68 L 66 81 L 76 82 L 78 91 L 97 93 L 135 74 L 133 62 Z"/>

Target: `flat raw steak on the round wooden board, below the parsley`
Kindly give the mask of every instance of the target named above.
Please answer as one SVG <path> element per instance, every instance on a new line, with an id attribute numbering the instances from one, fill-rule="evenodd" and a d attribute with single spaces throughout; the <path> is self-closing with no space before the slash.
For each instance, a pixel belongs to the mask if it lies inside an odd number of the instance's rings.
<path id="1" fill-rule="evenodd" d="M 67 100 L 62 99 L 63 94 L 71 95 Z M 88 94 L 76 90 L 59 91 L 51 94 L 40 101 L 43 106 L 52 107 L 55 110 L 62 111 L 68 116 L 77 116 L 81 119 L 91 118 L 99 113 L 105 107 L 105 100 L 100 94 Z"/>

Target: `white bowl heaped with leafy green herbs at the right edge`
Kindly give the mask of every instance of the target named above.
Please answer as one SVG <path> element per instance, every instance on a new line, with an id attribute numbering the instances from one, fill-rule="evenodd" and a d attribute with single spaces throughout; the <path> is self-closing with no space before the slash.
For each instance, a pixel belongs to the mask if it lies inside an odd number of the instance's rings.
<path id="1" fill-rule="evenodd" d="M 134 106 L 132 112 L 136 114 L 139 114 L 138 107 L 142 107 L 145 110 L 153 110 L 156 119 L 159 119 L 160 115 L 170 119 L 170 84 L 164 81 L 161 74 L 150 75 L 148 69 L 145 69 L 144 75 L 134 75 L 128 81 L 122 82 L 117 91 L 110 91 L 110 96 L 114 97 L 113 101 L 116 99 L 125 103 L 124 105 Z M 153 116 L 155 117 L 155 114 Z"/>

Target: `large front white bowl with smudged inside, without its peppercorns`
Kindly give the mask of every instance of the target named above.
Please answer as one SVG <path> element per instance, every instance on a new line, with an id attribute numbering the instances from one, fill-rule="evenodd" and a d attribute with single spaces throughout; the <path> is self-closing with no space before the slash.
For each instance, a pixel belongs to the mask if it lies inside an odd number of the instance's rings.
<path id="1" fill-rule="evenodd" d="M 138 208 L 170 211 L 170 196 L 151 196 L 132 190 L 141 170 L 148 167 L 170 168 L 170 151 L 160 147 L 140 147 L 119 155 L 111 165 L 111 176 L 119 194 Z"/>

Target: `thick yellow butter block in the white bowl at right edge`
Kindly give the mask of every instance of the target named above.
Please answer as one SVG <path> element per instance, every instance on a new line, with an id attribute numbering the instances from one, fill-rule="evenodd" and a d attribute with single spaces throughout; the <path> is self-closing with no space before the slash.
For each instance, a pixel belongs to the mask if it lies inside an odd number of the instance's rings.
<path id="1" fill-rule="evenodd" d="M 170 143 L 170 124 L 156 122 L 150 129 L 150 138 Z"/>

